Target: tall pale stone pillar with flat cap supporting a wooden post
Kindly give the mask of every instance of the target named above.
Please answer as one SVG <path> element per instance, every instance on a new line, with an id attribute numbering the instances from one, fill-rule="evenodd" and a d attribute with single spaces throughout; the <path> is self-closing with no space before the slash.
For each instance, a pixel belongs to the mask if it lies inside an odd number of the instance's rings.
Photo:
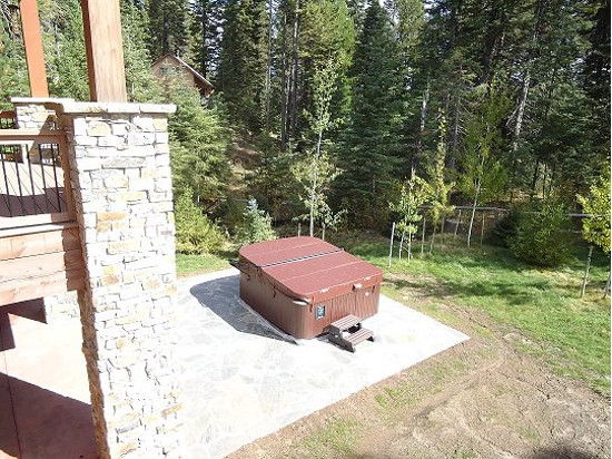
<path id="1" fill-rule="evenodd" d="M 78 293 L 100 458 L 180 457 L 172 352 L 174 106 L 63 102 L 86 287 Z"/>

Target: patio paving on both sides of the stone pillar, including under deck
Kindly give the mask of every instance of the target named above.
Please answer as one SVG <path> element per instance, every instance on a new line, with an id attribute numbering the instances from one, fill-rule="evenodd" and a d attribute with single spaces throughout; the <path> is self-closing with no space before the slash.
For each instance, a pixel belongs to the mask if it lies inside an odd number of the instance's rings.
<path id="1" fill-rule="evenodd" d="M 185 457 L 220 458 L 468 338 L 388 297 L 355 353 L 293 340 L 239 299 L 235 270 L 178 282 Z M 79 320 L 0 309 L 0 458 L 95 458 Z"/>

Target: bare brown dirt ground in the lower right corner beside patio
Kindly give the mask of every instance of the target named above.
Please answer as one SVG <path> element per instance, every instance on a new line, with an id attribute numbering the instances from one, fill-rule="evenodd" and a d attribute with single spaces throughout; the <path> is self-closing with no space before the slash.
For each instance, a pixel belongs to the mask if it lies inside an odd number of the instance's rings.
<path id="1" fill-rule="evenodd" d="M 611 457 L 610 400 L 555 375 L 515 330 L 405 294 L 472 339 L 230 458 Z"/>

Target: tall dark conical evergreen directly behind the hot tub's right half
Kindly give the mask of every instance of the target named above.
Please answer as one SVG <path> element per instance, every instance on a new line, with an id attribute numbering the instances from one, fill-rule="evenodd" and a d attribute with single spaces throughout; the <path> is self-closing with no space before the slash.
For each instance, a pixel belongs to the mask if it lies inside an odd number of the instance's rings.
<path id="1" fill-rule="evenodd" d="M 397 42 L 385 10 L 373 2 L 355 50 L 353 110 L 339 155 L 337 198 L 348 217 L 375 227 L 383 222 L 392 179 L 402 170 L 403 79 Z"/>

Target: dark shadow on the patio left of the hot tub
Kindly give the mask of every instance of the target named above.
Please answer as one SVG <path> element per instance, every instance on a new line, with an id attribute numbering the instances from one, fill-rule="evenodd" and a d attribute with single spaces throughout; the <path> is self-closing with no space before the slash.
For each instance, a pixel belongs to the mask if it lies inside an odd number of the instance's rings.
<path id="1" fill-rule="evenodd" d="M 230 275 L 194 285 L 189 293 L 203 307 L 210 310 L 240 333 L 249 333 L 273 340 L 295 343 L 276 331 L 274 325 L 250 310 L 239 293 L 239 275 Z"/>

